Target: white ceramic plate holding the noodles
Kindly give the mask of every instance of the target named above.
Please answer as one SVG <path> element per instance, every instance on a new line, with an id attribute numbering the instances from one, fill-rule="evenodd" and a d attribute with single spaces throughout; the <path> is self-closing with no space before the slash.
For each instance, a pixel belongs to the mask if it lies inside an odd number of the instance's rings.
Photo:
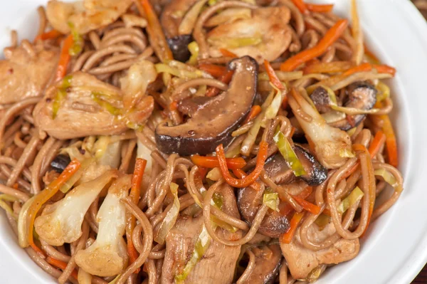
<path id="1" fill-rule="evenodd" d="M 120 0 L 117 0 L 120 1 Z M 36 7 L 44 0 L 1 1 L 0 47 L 9 44 L 11 29 L 19 38 L 33 38 Z M 331 0 L 329 0 L 331 2 Z M 335 0 L 334 11 L 349 15 L 349 0 Z M 358 0 L 367 42 L 381 61 L 394 65 L 391 80 L 394 126 L 399 137 L 404 193 L 391 210 L 374 223 L 362 240 L 359 256 L 322 275 L 322 283 L 410 283 L 427 261 L 427 26 L 408 0 Z M 1 283 L 56 283 L 38 268 L 16 243 L 0 215 Z"/>

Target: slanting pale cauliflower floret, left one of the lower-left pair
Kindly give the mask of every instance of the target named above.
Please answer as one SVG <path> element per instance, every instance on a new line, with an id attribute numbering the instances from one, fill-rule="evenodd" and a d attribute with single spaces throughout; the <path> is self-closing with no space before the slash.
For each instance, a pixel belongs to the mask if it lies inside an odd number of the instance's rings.
<path id="1" fill-rule="evenodd" d="M 116 170 L 107 171 L 100 177 L 75 187 L 60 201 L 46 206 L 43 214 L 34 222 L 36 233 L 51 246 L 77 241 L 82 235 L 83 219 L 90 204 L 115 177 Z"/>

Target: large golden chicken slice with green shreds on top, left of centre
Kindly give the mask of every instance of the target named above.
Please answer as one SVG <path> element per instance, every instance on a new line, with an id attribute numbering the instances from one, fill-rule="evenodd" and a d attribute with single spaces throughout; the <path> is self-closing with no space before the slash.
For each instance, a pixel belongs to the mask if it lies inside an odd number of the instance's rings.
<path id="1" fill-rule="evenodd" d="M 70 84 L 65 90 L 63 82 L 58 82 L 55 87 L 49 88 L 45 98 L 38 102 L 33 112 L 38 129 L 48 132 L 57 139 L 117 135 L 127 130 L 130 122 L 126 119 L 128 116 L 142 123 L 147 120 L 154 108 L 153 98 L 146 96 L 138 103 L 137 111 L 119 115 L 122 114 L 123 109 L 120 89 L 97 80 L 95 76 L 87 73 L 73 73 L 69 78 Z M 65 98 L 59 100 L 58 111 L 53 119 L 53 105 L 58 101 L 56 97 L 60 91 L 66 94 Z M 99 99 L 100 101 L 97 102 L 93 97 L 95 93 L 103 95 L 109 101 Z M 132 121 L 132 123 L 136 122 Z"/>

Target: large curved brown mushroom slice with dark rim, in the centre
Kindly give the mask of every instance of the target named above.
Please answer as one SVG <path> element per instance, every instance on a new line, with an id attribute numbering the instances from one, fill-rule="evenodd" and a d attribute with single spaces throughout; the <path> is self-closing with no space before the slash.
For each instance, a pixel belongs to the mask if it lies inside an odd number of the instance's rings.
<path id="1" fill-rule="evenodd" d="M 244 56 L 231 61 L 228 68 L 235 70 L 226 92 L 211 98 L 181 125 L 158 125 L 155 131 L 159 149 L 181 156 L 209 154 L 218 144 L 226 147 L 231 133 L 251 110 L 256 94 L 258 64 Z"/>

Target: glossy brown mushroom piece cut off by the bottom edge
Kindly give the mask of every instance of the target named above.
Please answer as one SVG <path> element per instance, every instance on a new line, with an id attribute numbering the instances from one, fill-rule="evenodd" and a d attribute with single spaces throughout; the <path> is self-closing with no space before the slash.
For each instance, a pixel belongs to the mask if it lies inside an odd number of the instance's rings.
<path id="1" fill-rule="evenodd" d="M 246 283 L 269 284 L 273 283 L 279 272 L 282 251 L 279 245 L 258 246 L 252 248 L 255 255 L 255 268 L 249 275 Z"/>

